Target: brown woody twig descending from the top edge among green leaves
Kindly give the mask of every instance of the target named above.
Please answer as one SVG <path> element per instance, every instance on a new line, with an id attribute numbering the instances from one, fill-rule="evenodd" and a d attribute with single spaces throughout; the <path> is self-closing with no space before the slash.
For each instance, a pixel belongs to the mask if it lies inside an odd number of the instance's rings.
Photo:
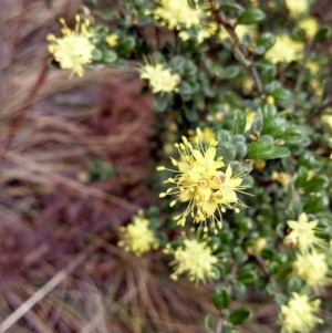
<path id="1" fill-rule="evenodd" d="M 256 66 L 251 62 L 251 59 L 249 56 L 250 55 L 249 50 L 241 44 L 239 37 L 235 32 L 234 25 L 231 25 L 226 20 L 225 15 L 218 10 L 218 4 L 217 4 L 216 0 L 209 0 L 209 2 L 210 2 L 211 10 L 212 10 L 216 22 L 218 24 L 221 24 L 225 28 L 225 30 L 228 32 L 230 39 L 232 40 L 235 46 L 238 48 L 238 50 L 242 54 L 243 59 L 246 59 L 248 61 L 248 63 L 249 63 L 248 69 L 253 79 L 256 89 L 257 89 L 258 93 L 260 95 L 262 95 L 263 89 L 262 89 L 261 80 L 259 77 Z"/>

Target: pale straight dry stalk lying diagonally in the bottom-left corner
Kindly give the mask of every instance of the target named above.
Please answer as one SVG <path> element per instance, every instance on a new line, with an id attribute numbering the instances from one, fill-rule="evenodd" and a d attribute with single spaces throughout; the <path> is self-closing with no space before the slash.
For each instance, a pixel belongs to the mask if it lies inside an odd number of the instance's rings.
<path id="1" fill-rule="evenodd" d="M 32 306 L 42 300 L 50 291 L 52 291 L 60 282 L 62 282 L 70 273 L 72 273 L 87 257 L 87 254 L 95 248 L 90 246 L 85 252 L 79 254 L 64 269 L 58 272 L 46 284 L 39 289 L 29 300 L 19 306 L 11 315 L 9 315 L 0 324 L 0 333 L 4 333 L 18 320 L 20 320 Z"/>

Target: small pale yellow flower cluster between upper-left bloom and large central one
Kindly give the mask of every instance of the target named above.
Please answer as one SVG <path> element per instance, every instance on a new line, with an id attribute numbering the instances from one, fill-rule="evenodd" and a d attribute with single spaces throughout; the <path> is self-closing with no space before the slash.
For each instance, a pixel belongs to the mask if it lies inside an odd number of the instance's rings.
<path id="1" fill-rule="evenodd" d="M 180 82 L 178 74 L 173 74 L 170 69 L 165 69 L 160 63 L 143 66 L 141 79 L 148 80 L 154 94 L 176 92 Z"/>

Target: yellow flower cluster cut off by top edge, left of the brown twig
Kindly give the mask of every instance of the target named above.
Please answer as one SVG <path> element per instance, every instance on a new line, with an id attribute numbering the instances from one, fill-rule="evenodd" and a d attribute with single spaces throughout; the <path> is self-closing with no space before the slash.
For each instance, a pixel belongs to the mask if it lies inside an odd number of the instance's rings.
<path id="1" fill-rule="evenodd" d="M 154 17 L 170 30 L 199 27 L 205 15 L 204 8 L 198 6 L 191 8 L 187 0 L 159 0 L 158 2 L 159 7 L 155 10 Z"/>

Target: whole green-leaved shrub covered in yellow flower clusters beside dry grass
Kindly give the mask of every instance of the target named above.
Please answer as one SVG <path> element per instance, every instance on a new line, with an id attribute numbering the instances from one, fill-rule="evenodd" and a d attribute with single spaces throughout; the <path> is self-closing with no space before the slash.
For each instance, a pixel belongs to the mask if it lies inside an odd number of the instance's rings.
<path id="1" fill-rule="evenodd" d="M 245 332 L 253 311 L 231 301 L 248 289 L 277 304 L 279 332 L 329 332 L 331 29 L 311 2 L 86 1 L 73 30 L 61 20 L 48 38 L 53 66 L 134 65 L 154 98 L 159 215 L 139 212 L 117 244 L 164 249 L 174 280 L 214 288 L 207 332 Z"/>

